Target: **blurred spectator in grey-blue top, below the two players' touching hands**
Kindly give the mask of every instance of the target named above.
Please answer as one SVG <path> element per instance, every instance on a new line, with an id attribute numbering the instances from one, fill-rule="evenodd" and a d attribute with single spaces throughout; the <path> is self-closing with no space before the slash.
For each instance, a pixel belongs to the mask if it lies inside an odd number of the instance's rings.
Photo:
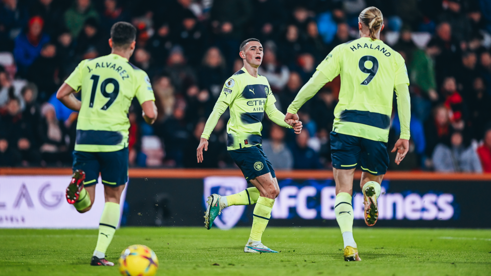
<path id="1" fill-rule="evenodd" d="M 270 139 L 263 141 L 263 150 L 275 169 L 293 168 L 293 156 L 284 139 L 285 129 L 272 124 Z"/>

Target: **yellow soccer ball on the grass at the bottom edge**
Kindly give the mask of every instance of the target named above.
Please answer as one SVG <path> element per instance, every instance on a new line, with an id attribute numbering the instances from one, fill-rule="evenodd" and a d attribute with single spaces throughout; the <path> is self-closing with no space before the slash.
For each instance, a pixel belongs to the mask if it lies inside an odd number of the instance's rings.
<path id="1" fill-rule="evenodd" d="M 119 272 L 124 276 L 153 276 L 157 272 L 157 255 L 145 245 L 128 246 L 119 257 Z"/>

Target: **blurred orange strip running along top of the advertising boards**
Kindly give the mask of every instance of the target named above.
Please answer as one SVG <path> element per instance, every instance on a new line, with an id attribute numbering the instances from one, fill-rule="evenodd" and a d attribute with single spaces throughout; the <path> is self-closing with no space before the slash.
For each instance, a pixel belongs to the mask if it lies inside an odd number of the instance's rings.
<path id="1" fill-rule="evenodd" d="M 67 175 L 70 168 L 0 168 L 0 175 Z M 333 178 L 332 170 L 277 170 L 278 178 L 328 179 Z M 130 177 L 141 178 L 204 178 L 208 176 L 242 176 L 238 169 L 156 169 L 130 168 Z M 360 178 L 361 171 L 355 172 Z M 491 173 L 439 173 L 427 171 L 389 171 L 385 175 L 389 180 L 470 180 L 491 181 Z"/>

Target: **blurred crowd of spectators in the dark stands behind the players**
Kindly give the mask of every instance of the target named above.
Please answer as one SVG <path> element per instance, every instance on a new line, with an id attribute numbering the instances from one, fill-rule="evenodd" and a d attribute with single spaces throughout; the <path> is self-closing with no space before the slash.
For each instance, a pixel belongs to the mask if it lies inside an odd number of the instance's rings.
<path id="1" fill-rule="evenodd" d="M 130 60 L 154 88 L 158 119 L 133 102 L 130 165 L 234 167 L 225 113 L 204 163 L 196 147 L 224 81 L 242 67 L 238 47 L 258 38 L 259 73 L 286 113 L 317 64 L 359 37 L 368 6 L 384 15 L 381 39 L 411 79 L 411 149 L 390 169 L 491 172 L 491 2 L 487 0 L 0 0 L 0 166 L 70 166 L 77 114 L 55 97 L 78 62 L 109 54 L 118 21 L 138 30 Z M 299 111 L 300 135 L 263 121 L 276 169 L 331 167 L 329 133 L 339 77 Z M 400 125 L 394 100 L 388 149 Z M 394 156 L 390 155 L 391 159 Z"/>

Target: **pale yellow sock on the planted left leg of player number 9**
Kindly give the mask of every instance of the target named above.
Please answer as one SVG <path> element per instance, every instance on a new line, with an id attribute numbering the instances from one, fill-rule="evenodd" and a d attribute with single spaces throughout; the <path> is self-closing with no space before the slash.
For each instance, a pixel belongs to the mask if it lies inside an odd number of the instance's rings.
<path id="1" fill-rule="evenodd" d="M 339 193 L 336 196 L 334 212 L 338 221 L 341 234 L 343 235 L 344 247 L 352 246 L 356 248 L 353 239 L 353 206 L 351 205 L 351 195 L 348 193 Z"/>

